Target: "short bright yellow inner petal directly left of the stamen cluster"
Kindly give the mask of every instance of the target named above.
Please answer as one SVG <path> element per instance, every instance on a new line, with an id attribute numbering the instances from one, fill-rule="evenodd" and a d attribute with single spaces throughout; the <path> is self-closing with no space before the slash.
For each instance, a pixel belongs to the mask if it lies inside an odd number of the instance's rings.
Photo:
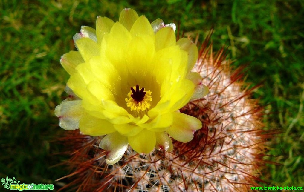
<path id="1" fill-rule="evenodd" d="M 94 95 L 96 98 L 102 98 L 106 100 L 115 100 L 112 92 L 105 87 L 103 84 L 100 84 L 98 81 L 91 81 L 87 89 L 92 95 Z"/>

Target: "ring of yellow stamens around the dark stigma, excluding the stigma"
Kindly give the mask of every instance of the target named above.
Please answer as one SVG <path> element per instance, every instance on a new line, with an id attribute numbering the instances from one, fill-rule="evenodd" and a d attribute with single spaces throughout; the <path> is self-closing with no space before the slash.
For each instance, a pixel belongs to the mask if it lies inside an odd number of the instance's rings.
<path id="1" fill-rule="evenodd" d="M 134 86 L 133 89 L 136 89 L 136 87 Z M 139 87 L 139 89 L 141 89 Z M 144 91 L 146 91 L 144 89 Z M 151 106 L 150 101 L 152 101 L 152 91 L 146 91 L 145 96 L 143 97 L 143 100 L 140 102 L 135 101 L 132 97 L 131 97 L 132 91 L 130 91 L 128 93 L 128 98 L 125 99 L 125 101 L 127 102 L 127 107 L 130 107 L 131 111 L 136 111 L 136 112 L 140 112 L 140 111 L 145 111 L 146 109 L 149 109 Z"/>

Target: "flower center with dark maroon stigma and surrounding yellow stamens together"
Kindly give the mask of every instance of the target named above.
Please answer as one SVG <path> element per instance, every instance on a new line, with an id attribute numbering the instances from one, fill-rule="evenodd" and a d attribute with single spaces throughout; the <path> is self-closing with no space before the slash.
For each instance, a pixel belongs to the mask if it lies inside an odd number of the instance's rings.
<path id="1" fill-rule="evenodd" d="M 128 93 L 128 98 L 125 99 L 127 107 L 130 107 L 131 111 L 146 111 L 150 108 L 152 101 L 151 91 L 145 91 L 145 88 L 140 88 L 139 85 L 131 87 L 131 91 Z"/>

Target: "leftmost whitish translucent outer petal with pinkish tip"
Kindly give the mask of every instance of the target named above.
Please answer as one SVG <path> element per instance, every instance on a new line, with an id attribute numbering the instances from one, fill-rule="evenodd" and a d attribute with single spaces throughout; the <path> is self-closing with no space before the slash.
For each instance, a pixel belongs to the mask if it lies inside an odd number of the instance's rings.
<path id="1" fill-rule="evenodd" d="M 55 115 L 59 117 L 59 126 L 66 130 L 78 129 L 79 120 L 84 114 L 81 100 L 64 101 L 55 108 Z"/>

